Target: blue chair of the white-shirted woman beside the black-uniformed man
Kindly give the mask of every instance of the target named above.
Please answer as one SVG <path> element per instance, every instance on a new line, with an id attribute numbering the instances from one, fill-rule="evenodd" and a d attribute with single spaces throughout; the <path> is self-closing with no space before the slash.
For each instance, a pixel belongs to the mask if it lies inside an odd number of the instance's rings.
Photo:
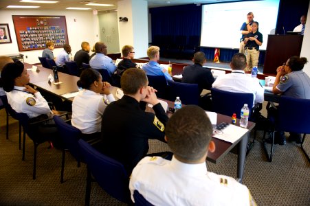
<path id="1" fill-rule="evenodd" d="M 78 146 L 78 139 L 80 139 L 81 132 L 78 128 L 71 126 L 71 124 L 67 124 L 67 122 L 59 116 L 55 115 L 53 118 L 60 137 L 63 139 L 64 143 L 60 175 L 60 183 L 63 183 L 63 174 L 65 171 L 65 150 L 69 150 L 71 155 L 73 155 L 76 161 L 78 161 L 78 168 L 80 167 L 80 161 L 83 161 L 82 156 L 80 155 L 80 147 Z"/>

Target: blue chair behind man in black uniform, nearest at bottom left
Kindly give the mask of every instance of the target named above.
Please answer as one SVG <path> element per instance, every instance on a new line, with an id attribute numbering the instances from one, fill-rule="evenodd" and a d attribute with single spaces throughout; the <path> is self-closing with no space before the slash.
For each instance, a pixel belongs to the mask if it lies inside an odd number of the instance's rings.
<path id="1" fill-rule="evenodd" d="M 89 205 L 89 199 L 91 194 L 91 174 L 98 182 L 100 187 L 124 203 L 131 203 L 129 192 L 129 175 L 126 173 L 124 165 L 102 155 L 90 144 L 83 139 L 78 141 L 82 157 L 87 163 L 87 185 L 85 205 Z"/>

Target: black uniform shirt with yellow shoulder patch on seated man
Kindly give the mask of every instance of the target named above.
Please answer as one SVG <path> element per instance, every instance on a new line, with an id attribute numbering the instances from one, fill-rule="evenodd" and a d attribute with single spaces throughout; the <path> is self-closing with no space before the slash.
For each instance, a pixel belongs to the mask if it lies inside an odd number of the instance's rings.
<path id="1" fill-rule="evenodd" d="M 154 113 L 145 112 L 146 103 L 124 95 L 111 102 L 102 115 L 101 152 L 120 161 L 128 174 L 148 152 L 148 139 L 164 141 L 168 121 L 160 103 Z"/>

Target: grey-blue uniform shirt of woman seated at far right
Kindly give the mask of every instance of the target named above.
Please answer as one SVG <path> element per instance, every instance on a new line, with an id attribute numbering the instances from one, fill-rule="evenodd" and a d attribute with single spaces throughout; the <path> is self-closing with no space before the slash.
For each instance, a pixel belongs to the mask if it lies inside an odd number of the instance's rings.
<path id="1" fill-rule="evenodd" d="M 310 99 L 310 78 L 304 71 L 292 71 L 280 78 L 276 89 L 291 98 Z"/>

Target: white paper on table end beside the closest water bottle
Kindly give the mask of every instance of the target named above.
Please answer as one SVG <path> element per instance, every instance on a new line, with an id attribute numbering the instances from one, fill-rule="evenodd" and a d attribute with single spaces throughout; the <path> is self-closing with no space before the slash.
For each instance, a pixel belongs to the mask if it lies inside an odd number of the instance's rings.
<path id="1" fill-rule="evenodd" d="M 230 124 L 221 131 L 223 132 L 223 134 L 216 134 L 213 135 L 213 137 L 234 143 L 235 141 L 240 139 L 240 137 L 245 135 L 245 133 L 247 133 L 249 130 L 247 128 L 242 128 L 240 126 Z"/>

